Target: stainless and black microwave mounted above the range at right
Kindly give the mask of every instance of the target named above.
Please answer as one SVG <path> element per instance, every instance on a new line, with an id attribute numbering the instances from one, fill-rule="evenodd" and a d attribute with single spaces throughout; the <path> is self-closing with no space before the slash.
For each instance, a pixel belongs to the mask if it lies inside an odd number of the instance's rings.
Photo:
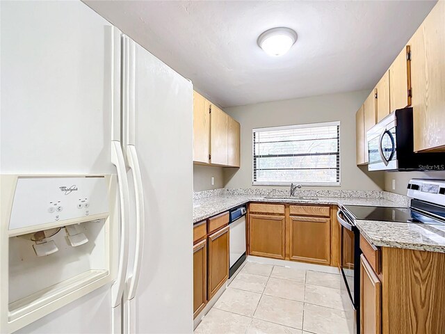
<path id="1" fill-rule="evenodd" d="M 412 108 L 398 109 L 366 132 L 369 170 L 445 170 L 445 153 L 414 152 Z"/>

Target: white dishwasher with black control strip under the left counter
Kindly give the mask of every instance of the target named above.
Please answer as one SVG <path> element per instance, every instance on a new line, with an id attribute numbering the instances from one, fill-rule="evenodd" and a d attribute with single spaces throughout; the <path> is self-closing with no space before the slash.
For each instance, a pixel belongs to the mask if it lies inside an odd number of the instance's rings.
<path id="1" fill-rule="evenodd" d="M 230 270 L 229 278 L 243 264 L 247 255 L 245 254 L 245 214 L 247 208 L 245 205 L 230 210 L 229 221 L 229 254 Z"/>

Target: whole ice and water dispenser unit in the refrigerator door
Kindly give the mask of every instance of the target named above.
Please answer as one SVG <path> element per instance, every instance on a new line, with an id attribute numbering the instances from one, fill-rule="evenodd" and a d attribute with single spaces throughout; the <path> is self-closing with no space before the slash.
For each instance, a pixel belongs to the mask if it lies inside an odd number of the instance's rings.
<path id="1" fill-rule="evenodd" d="M 0 333 L 110 283 L 115 175 L 1 175 Z"/>

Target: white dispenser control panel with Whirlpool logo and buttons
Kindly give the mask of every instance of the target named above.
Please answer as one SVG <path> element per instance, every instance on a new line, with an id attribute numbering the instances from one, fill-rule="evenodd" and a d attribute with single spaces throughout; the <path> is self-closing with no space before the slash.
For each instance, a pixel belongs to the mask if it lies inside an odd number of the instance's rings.
<path id="1" fill-rule="evenodd" d="M 22 177 L 17 180 L 9 229 L 108 211 L 105 177 Z"/>

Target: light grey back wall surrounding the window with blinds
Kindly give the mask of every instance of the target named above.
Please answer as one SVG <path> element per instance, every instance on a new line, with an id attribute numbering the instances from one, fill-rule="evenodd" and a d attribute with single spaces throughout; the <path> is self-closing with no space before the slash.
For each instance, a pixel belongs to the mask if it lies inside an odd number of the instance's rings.
<path id="1" fill-rule="evenodd" d="M 235 106 L 225 112 L 241 123 L 241 168 L 224 170 L 227 188 L 254 188 L 252 186 L 252 129 L 279 125 L 313 122 L 340 123 L 340 187 L 305 187 L 313 189 L 379 190 L 385 186 L 382 172 L 368 172 L 367 167 L 355 163 L 355 113 L 363 104 L 369 90 L 305 97 L 248 106 Z"/>

